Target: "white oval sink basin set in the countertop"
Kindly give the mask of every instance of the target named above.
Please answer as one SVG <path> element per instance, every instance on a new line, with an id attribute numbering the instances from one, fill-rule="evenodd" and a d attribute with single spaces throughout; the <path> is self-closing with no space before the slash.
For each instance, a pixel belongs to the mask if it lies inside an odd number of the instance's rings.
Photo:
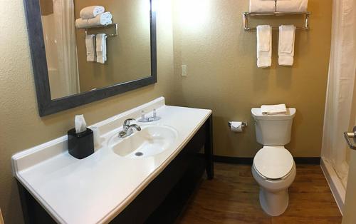
<path id="1" fill-rule="evenodd" d="M 177 139 L 177 131 L 169 126 L 141 126 L 131 136 L 119 138 L 117 133 L 109 141 L 109 147 L 118 156 L 142 158 L 155 156 L 167 150 Z"/>

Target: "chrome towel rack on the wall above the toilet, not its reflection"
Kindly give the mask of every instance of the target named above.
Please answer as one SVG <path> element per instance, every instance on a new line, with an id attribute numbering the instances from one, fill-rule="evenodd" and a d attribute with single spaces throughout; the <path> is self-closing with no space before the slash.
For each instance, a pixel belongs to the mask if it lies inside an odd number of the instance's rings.
<path id="1" fill-rule="evenodd" d="M 248 27 L 248 16 L 288 16 L 288 15 L 305 15 L 305 22 L 304 26 L 300 27 L 297 26 L 295 29 L 302 29 L 308 31 L 309 29 L 309 17 L 310 17 L 310 12 L 309 11 L 290 11 L 290 12 L 281 12 L 281 11 L 275 11 L 275 12 L 244 12 L 243 17 L 244 17 L 244 30 L 245 31 L 256 31 L 256 27 Z M 272 29 L 278 29 L 278 27 L 272 27 Z"/>

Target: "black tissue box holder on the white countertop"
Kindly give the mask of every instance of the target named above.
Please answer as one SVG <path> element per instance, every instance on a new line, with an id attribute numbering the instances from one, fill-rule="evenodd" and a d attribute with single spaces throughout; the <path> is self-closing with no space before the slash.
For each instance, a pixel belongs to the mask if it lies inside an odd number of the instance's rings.
<path id="1" fill-rule="evenodd" d="M 76 133 L 75 128 L 68 131 L 68 152 L 75 158 L 82 159 L 94 153 L 93 130 Z"/>

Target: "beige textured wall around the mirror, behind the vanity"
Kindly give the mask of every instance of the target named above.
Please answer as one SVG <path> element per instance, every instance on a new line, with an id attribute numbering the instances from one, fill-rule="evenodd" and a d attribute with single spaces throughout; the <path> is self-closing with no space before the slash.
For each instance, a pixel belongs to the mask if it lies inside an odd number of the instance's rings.
<path id="1" fill-rule="evenodd" d="M 22 223 L 19 195 L 11 175 L 14 153 L 65 135 L 73 127 L 75 114 L 83 113 L 88 124 L 93 124 L 159 96 L 166 96 L 167 103 L 172 103 L 170 6 L 169 1 L 162 1 L 157 16 L 158 83 L 45 118 L 37 111 L 23 1 L 0 1 L 0 208 L 5 223 Z"/>

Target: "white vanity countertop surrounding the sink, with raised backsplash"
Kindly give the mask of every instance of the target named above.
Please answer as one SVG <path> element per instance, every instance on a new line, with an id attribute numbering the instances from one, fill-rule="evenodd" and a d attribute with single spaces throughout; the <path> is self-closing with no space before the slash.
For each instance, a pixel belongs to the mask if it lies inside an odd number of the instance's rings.
<path id="1" fill-rule="evenodd" d="M 147 158 L 123 158 L 108 148 L 122 121 L 153 108 L 162 117 L 153 123 L 177 130 L 169 149 Z M 14 176 L 57 222 L 107 223 L 164 170 L 210 115 L 210 110 L 165 106 L 158 98 L 93 125 L 100 128 L 102 144 L 91 156 L 70 156 L 63 136 L 14 155 Z"/>

